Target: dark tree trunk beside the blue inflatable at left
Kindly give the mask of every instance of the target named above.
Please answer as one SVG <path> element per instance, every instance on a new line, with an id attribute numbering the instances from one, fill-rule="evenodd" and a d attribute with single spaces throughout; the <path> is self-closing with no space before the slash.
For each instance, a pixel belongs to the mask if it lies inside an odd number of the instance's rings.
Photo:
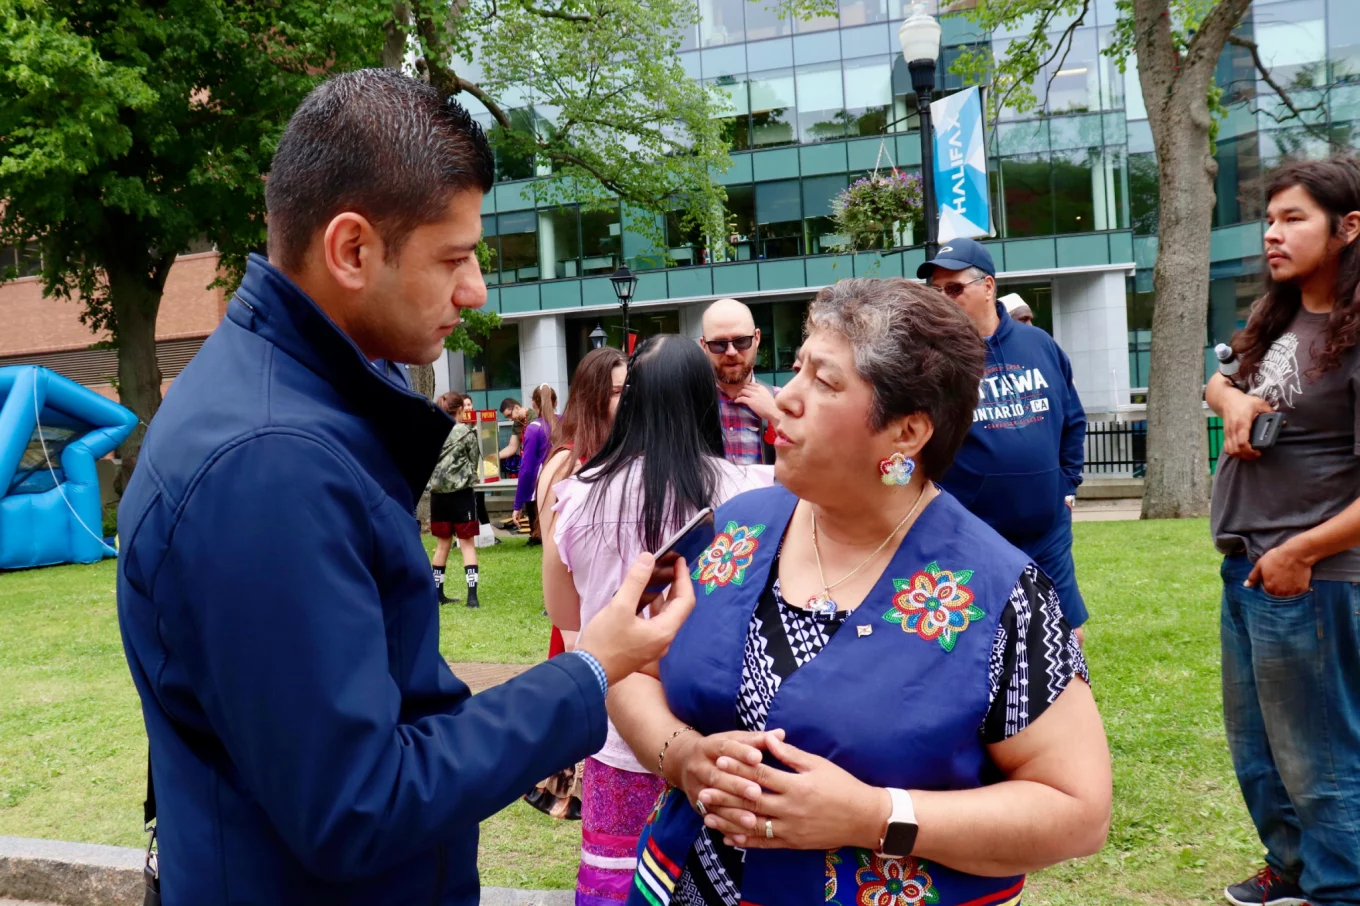
<path id="1" fill-rule="evenodd" d="M 139 424 L 118 448 L 122 465 L 114 490 L 122 490 L 137 465 L 147 424 L 160 408 L 160 365 L 156 362 L 156 313 L 163 288 L 148 284 L 144 273 L 113 267 L 109 275 L 109 303 L 113 307 L 118 341 L 118 399 L 132 409 Z"/>

